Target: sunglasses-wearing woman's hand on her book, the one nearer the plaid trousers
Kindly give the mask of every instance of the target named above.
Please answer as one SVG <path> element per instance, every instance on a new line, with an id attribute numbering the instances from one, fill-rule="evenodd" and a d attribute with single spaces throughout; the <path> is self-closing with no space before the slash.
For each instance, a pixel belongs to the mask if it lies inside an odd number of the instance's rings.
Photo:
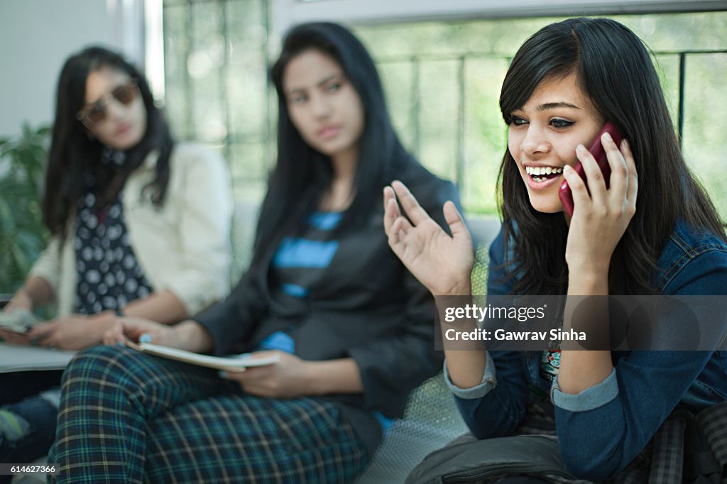
<path id="1" fill-rule="evenodd" d="M 48 323 L 39 323 L 28 331 L 34 344 L 59 350 L 82 350 L 100 344 L 103 334 L 116 320 L 115 315 L 68 315 Z"/>

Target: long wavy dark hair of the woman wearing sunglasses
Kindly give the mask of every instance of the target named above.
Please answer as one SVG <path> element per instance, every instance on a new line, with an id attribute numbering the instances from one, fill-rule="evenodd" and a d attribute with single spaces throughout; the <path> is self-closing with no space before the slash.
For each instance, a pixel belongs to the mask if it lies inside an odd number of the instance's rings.
<path id="1" fill-rule="evenodd" d="M 100 68 L 121 70 L 136 79 L 146 108 L 146 132 L 136 146 L 126 151 L 124 164 L 116 170 L 100 163 L 104 146 L 90 137 L 76 118 L 76 113 L 85 103 L 86 80 L 90 73 Z M 44 221 L 51 233 L 65 236 L 68 217 L 88 189 L 89 175 L 95 180 L 92 188 L 96 195 L 104 195 L 117 172 L 121 172 L 125 180 L 155 149 L 159 154 L 156 175 L 147 188 L 152 192 L 153 203 L 164 203 L 169 182 L 169 153 L 173 145 L 169 127 L 154 105 L 149 85 L 134 65 L 103 47 L 89 47 L 68 57 L 58 79 L 55 122 L 42 203 Z"/>

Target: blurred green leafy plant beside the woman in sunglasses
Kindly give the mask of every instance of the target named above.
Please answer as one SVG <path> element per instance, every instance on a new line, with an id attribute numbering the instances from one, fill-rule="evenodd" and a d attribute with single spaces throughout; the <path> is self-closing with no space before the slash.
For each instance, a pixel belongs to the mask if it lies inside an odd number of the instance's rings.
<path id="1" fill-rule="evenodd" d="M 50 129 L 23 125 L 17 137 L 0 139 L 0 293 L 12 293 L 44 248 L 40 187 Z"/>

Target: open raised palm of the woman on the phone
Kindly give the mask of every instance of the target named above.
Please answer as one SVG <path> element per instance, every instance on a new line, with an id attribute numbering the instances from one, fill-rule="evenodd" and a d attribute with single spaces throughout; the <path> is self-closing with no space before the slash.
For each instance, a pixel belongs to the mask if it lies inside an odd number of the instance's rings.
<path id="1" fill-rule="evenodd" d="M 403 217 L 397 198 L 409 219 Z M 454 203 L 447 201 L 443 207 L 451 237 L 401 182 L 384 189 L 384 206 L 389 246 L 414 277 L 435 296 L 471 294 L 472 237 Z"/>

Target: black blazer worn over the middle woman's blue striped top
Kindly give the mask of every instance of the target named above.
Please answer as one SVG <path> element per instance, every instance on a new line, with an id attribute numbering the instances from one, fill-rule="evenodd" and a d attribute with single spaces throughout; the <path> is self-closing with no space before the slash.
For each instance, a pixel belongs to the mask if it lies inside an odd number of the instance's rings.
<path id="1" fill-rule="evenodd" d="M 414 161 L 396 177 L 446 228 L 443 203 L 459 206 L 454 185 Z M 212 335 L 216 354 L 254 350 L 274 331 L 293 326 L 300 358 L 350 357 L 358 364 L 363 395 L 327 399 L 402 416 L 409 391 L 441 369 L 443 354 L 434 351 L 433 297 L 389 248 L 382 202 L 365 227 L 346 230 L 337 240 L 338 251 L 318 286 L 309 288 L 304 310 L 283 307 L 271 297 L 268 272 L 278 249 L 273 246 L 224 301 L 194 319 Z"/>

